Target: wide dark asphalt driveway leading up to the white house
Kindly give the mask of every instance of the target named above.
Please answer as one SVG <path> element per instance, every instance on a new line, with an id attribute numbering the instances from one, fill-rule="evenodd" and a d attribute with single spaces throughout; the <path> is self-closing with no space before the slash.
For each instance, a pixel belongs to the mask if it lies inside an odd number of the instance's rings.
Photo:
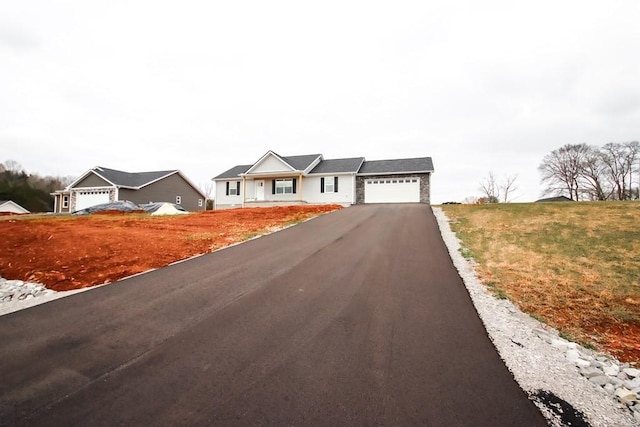
<path id="1" fill-rule="evenodd" d="M 424 205 L 0 317 L 0 424 L 542 426 Z"/>

